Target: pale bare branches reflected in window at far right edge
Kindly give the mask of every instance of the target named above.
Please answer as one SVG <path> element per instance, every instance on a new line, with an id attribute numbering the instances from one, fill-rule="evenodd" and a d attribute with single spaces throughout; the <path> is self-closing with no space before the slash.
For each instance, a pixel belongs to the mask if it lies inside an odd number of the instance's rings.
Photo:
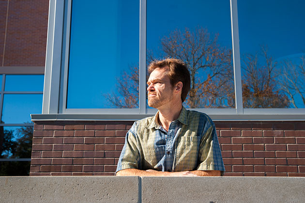
<path id="1" fill-rule="evenodd" d="M 305 55 L 299 60 L 286 60 L 283 62 L 282 76 L 280 77 L 280 86 L 290 98 L 294 108 L 298 108 L 295 98 L 299 96 L 305 105 Z"/>

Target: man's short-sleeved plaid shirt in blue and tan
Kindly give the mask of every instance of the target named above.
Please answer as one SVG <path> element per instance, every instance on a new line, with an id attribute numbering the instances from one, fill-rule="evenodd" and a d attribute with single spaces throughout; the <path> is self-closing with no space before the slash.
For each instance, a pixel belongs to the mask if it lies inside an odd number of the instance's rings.
<path id="1" fill-rule="evenodd" d="M 127 132 L 116 172 L 153 169 L 179 172 L 225 171 L 212 119 L 184 107 L 168 132 L 157 122 L 158 114 L 136 121 Z"/>

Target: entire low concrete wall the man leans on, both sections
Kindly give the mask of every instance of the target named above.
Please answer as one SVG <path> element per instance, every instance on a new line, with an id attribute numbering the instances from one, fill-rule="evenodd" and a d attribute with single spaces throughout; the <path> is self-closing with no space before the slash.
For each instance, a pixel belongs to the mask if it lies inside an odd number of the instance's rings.
<path id="1" fill-rule="evenodd" d="M 1 202 L 301 203 L 305 177 L 0 177 Z"/>

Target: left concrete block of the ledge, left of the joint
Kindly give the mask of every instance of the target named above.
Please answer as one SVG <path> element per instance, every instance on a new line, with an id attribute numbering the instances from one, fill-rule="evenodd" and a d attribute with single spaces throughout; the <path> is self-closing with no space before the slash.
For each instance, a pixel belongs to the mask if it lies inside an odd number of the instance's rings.
<path id="1" fill-rule="evenodd" d="M 2 203 L 137 203 L 139 177 L 0 177 Z"/>

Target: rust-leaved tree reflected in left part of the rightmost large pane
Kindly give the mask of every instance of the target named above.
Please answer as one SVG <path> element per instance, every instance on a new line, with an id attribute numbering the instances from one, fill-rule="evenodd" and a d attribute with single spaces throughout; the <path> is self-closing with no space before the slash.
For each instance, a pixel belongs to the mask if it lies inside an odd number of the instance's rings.
<path id="1" fill-rule="evenodd" d="M 289 107 L 288 97 L 276 88 L 276 63 L 268 56 L 266 47 L 261 46 L 259 54 L 244 55 L 242 64 L 244 108 Z"/>

